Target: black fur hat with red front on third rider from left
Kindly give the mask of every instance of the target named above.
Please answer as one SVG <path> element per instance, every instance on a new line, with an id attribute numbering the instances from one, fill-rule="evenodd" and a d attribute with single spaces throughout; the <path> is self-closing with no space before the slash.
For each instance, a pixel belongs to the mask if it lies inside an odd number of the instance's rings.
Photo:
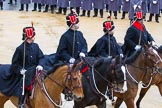
<path id="1" fill-rule="evenodd" d="M 112 31 L 114 28 L 115 28 L 114 22 L 111 21 L 111 16 L 108 15 L 107 21 L 103 22 L 103 31 L 104 32 Z"/>

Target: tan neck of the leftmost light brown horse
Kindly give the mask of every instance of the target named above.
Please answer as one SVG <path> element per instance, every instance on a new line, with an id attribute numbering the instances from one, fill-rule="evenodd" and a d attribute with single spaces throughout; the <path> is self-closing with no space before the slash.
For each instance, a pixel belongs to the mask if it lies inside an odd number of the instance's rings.
<path id="1" fill-rule="evenodd" d="M 67 68 L 59 68 L 54 73 L 50 74 L 49 77 L 53 79 L 53 81 L 49 78 L 45 79 L 45 86 L 47 91 L 52 97 L 52 99 L 59 104 L 61 99 L 61 93 L 65 87 L 65 80 L 67 76 Z"/>

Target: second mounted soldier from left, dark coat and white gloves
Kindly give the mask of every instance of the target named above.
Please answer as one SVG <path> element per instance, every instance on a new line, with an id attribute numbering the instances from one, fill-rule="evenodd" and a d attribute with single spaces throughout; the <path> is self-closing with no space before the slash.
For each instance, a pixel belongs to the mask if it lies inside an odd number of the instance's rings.
<path id="1" fill-rule="evenodd" d="M 73 11 L 66 17 L 69 29 L 61 36 L 56 58 L 66 63 L 74 63 L 80 56 L 87 55 L 87 42 L 79 29 L 78 15 Z"/>

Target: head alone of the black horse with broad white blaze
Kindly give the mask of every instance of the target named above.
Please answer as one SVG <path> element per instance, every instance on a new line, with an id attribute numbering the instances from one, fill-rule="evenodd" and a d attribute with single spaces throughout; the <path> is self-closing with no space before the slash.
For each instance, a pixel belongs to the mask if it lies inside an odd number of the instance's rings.
<path id="1" fill-rule="evenodd" d="M 125 66 L 123 65 L 123 60 L 120 56 L 116 56 L 111 61 L 110 65 L 110 74 L 111 80 L 113 82 L 114 90 L 116 92 L 126 92 L 127 84 L 126 84 L 126 72 Z"/>

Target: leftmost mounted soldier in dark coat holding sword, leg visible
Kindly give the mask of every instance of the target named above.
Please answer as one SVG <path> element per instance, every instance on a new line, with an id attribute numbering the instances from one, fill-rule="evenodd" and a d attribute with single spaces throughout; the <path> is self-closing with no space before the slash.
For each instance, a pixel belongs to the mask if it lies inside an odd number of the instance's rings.
<path id="1" fill-rule="evenodd" d="M 33 26 L 23 29 L 22 40 L 23 43 L 16 48 L 13 55 L 10 69 L 11 72 L 17 74 L 16 79 L 21 81 L 22 93 L 18 94 L 19 108 L 24 108 L 25 95 L 32 89 L 31 82 L 36 70 L 43 70 L 41 63 L 44 58 L 38 44 L 34 43 L 35 29 Z"/>

